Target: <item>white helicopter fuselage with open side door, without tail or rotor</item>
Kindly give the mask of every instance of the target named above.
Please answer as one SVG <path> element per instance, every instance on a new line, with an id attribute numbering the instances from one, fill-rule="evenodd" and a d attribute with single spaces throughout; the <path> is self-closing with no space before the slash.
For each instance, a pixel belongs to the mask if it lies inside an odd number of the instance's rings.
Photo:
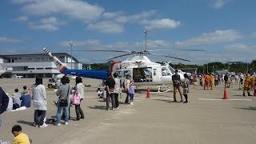
<path id="1" fill-rule="evenodd" d="M 163 86 L 172 84 L 174 69 L 169 64 L 150 62 L 146 56 L 134 56 L 124 62 L 114 64 L 113 73 L 123 82 L 129 74 L 135 86 Z M 184 80 L 183 74 L 179 74 Z"/>

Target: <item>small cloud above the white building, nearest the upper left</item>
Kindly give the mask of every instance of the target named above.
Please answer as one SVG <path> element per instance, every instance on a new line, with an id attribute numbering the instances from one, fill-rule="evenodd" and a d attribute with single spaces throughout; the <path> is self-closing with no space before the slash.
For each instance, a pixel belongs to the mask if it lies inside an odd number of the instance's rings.
<path id="1" fill-rule="evenodd" d="M 57 18 L 42 18 L 39 22 L 30 22 L 29 27 L 33 30 L 49 30 L 54 31 L 58 30 L 59 26 L 64 25 L 65 22 L 58 21 Z"/>

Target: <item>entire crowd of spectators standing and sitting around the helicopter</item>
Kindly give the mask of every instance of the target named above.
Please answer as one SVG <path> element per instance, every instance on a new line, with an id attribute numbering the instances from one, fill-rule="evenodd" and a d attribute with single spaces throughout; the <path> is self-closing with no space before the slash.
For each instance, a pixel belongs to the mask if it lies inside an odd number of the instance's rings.
<path id="1" fill-rule="evenodd" d="M 105 97 L 106 97 L 106 110 L 110 110 L 110 103 L 112 110 L 119 108 L 119 94 L 121 94 L 122 88 L 126 93 L 126 104 L 134 105 L 134 81 L 130 79 L 130 75 L 126 75 L 124 82 L 118 78 L 118 74 L 108 74 L 105 86 Z M 175 74 L 172 76 L 173 86 L 174 86 L 174 102 L 178 102 L 176 98 L 177 90 L 180 95 L 180 102 L 188 102 L 188 94 L 190 91 L 191 78 L 187 74 L 184 74 L 185 80 L 182 82 L 178 70 L 175 70 Z M 244 79 L 245 78 L 245 79 Z M 214 86 L 220 84 L 225 84 L 225 88 L 229 88 L 231 84 L 244 84 L 243 96 L 246 92 L 248 96 L 251 96 L 250 90 L 254 89 L 255 75 L 254 74 L 199 74 L 198 80 L 200 86 L 203 86 L 204 90 L 213 90 Z M 68 125 L 70 120 L 70 106 L 75 106 L 76 121 L 85 118 L 85 114 L 82 110 L 81 104 L 84 98 L 85 86 L 82 83 L 81 77 L 76 77 L 75 86 L 70 86 L 70 79 L 67 76 L 61 78 L 61 84 L 58 86 L 56 91 L 56 96 L 58 96 L 58 101 L 55 103 L 57 107 L 55 125 L 61 126 L 62 119 L 64 120 L 64 125 Z M 194 82 L 194 81 L 193 81 Z M 101 93 L 98 93 L 101 95 Z M 102 93 L 103 94 L 103 93 Z M 185 98 L 185 102 L 183 101 Z M 46 124 L 46 110 L 47 110 L 47 100 L 46 100 L 46 88 L 42 84 L 42 78 L 36 78 L 35 83 L 31 86 L 30 90 L 27 90 L 26 86 L 23 86 L 23 90 L 20 93 L 18 89 L 14 90 L 14 94 L 9 96 L 0 87 L 0 126 L 2 124 L 1 114 L 6 110 L 15 110 L 20 107 L 30 107 L 31 101 L 34 104 L 34 126 L 43 128 L 48 126 Z M 14 126 L 12 128 L 12 133 L 14 134 L 14 142 L 31 142 L 31 139 L 22 133 L 21 126 Z"/>

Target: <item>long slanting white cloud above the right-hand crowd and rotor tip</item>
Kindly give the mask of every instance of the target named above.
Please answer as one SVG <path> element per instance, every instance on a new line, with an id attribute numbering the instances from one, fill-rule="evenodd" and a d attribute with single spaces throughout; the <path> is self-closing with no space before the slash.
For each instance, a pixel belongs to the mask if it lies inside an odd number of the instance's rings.
<path id="1" fill-rule="evenodd" d="M 214 32 L 200 34 L 196 38 L 190 38 L 183 42 L 175 42 L 175 45 L 201 46 L 221 42 L 232 42 L 238 38 L 242 38 L 242 35 L 240 35 L 236 30 L 215 30 Z"/>

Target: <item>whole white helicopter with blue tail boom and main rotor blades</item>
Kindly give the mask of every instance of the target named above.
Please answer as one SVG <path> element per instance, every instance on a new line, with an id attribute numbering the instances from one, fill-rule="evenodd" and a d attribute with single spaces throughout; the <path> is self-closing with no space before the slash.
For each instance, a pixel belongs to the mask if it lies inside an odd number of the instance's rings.
<path id="1" fill-rule="evenodd" d="M 162 54 L 154 54 L 154 51 L 162 51 L 162 50 L 143 50 L 143 51 L 130 51 L 130 50 L 74 50 L 74 51 L 97 51 L 97 52 L 118 52 L 118 53 L 126 53 L 119 55 L 114 58 L 121 58 L 128 55 L 135 54 L 134 57 L 127 58 L 125 61 L 112 61 L 111 70 L 69 70 L 58 60 L 58 58 L 54 57 L 50 50 L 43 48 L 43 50 L 50 55 L 51 58 L 54 58 L 54 62 L 58 67 L 58 70 L 62 74 L 72 74 L 79 75 L 86 78 L 97 78 L 106 80 L 107 73 L 117 73 L 118 78 L 121 79 L 121 82 L 124 82 L 127 75 L 130 75 L 130 78 L 134 80 L 135 86 L 158 86 L 158 88 L 162 89 L 162 86 L 172 84 L 172 75 L 174 75 L 174 69 L 169 65 L 170 62 L 165 63 L 156 63 L 151 62 L 149 58 L 147 58 L 147 54 L 158 55 L 166 58 L 175 58 L 178 60 L 190 62 L 190 60 L 186 60 L 183 58 L 176 58 L 171 56 L 166 56 Z M 109 58 L 108 60 L 113 60 L 114 58 Z M 184 74 L 182 71 L 178 73 L 181 77 L 181 80 L 184 81 Z M 158 91 L 159 91 L 158 89 Z"/>

